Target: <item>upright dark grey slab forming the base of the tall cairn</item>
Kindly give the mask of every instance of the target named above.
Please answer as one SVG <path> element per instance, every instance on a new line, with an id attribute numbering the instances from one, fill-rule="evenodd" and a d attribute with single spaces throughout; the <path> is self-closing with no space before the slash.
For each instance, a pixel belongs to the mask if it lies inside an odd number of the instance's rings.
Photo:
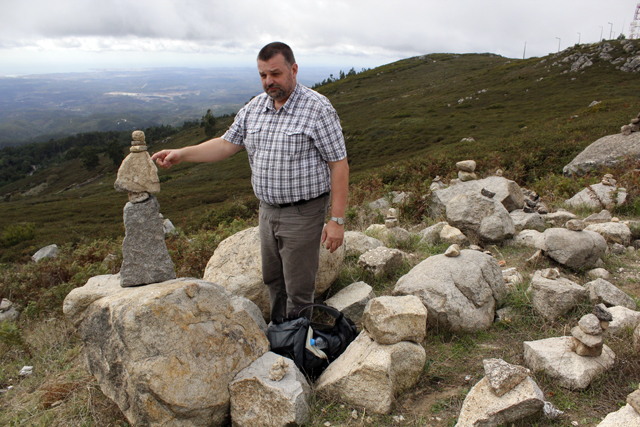
<path id="1" fill-rule="evenodd" d="M 176 278 L 159 213 L 160 204 L 155 196 L 142 203 L 125 205 L 121 286 L 147 285 Z"/>

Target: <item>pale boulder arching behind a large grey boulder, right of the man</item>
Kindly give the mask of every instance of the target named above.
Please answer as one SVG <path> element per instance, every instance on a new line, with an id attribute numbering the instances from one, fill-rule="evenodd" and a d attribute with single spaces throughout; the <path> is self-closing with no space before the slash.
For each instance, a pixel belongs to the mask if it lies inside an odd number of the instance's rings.
<path id="1" fill-rule="evenodd" d="M 524 205 L 524 195 L 515 181 L 499 176 L 490 176 L 480 180 L 459 182 L 434 192 L 430 205 L 433 216 L 442 216 L 452 199 L 462 194 L 480 194 L 483 188 L 495 193 L 493 200 L 502 203 L 508 212 L 522 209 Z"/>

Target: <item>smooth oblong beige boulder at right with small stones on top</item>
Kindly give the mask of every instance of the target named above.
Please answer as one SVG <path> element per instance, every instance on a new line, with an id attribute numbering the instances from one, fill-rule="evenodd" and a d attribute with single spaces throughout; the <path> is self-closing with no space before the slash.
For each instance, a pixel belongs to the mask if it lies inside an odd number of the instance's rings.
<path id="1" fill-rule="evenodd" d="M 545 254 L 570 268 L 589 268 L 607 251 L 607 242 L 595 231 L 548 228 L 544 236 Z"/>

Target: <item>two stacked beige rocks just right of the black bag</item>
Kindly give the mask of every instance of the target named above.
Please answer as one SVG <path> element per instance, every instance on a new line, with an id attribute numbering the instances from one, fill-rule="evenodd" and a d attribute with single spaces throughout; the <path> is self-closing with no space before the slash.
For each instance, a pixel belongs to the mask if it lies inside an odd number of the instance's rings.
<path id="1" fill-rule="evenodd" d="M 418 381 L 426 360 L 420 343 L 427 310 L 414 296 L 379 297 L 367 304 L 364 330 L 325 370 L 316 391 L 388 414 L 396 396 Z"/>

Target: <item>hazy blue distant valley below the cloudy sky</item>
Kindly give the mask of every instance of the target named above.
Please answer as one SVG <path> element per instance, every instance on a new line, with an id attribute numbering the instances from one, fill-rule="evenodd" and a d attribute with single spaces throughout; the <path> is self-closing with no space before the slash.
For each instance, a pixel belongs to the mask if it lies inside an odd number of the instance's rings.
<path id="1" fill-rule="evenodd" d="M 306 69 L 306 85 L 329 68 Z M 0 77 L 0 146 L 238 111 L 262 90 L 254 68 L 158 68 Z"/>

